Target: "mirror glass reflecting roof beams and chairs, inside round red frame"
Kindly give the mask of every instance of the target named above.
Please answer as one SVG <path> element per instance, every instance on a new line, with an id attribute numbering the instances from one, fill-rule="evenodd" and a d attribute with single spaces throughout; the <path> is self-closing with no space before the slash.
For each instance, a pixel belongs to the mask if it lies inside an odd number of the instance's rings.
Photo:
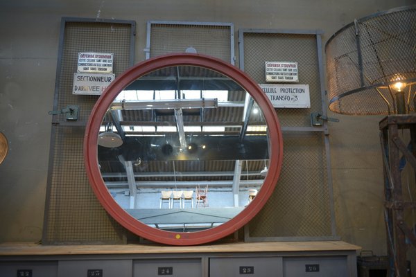
<path id="1" fill-rule="evenodd" d="M 98 144 L 116 203 L 166 231 L 232 219 L 253 201 L 268 169 L 257 103 L 233 80 L 198 66 L 159 69 L 129 84 L 107 110 Z"/>

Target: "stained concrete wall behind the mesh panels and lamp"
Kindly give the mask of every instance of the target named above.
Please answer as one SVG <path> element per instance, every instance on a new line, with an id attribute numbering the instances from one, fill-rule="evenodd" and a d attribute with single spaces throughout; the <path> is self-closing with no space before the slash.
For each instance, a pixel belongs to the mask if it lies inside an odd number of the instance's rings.
<path id="1" fill-rule="evenodd" d="M 322 42 L 354 18 L 415 0 L 162 0 L 0 2 L 0 132 L 10 152 L 0 165 L 0 242 L 42 236 L 61 17 L 137 22 L 135 57 L 144 60 L 146 21 L 220 21 L 240 28 L 322 29 Z M 235 34 L 237 39 L 238 35 Z M 236 43 L 236 47 L 238 44 Z M 236 48 L 236 55 L 238 49 Z M 238 61 L 238 57 L 237 57 Z M 342 239 L 385 254 L 381 117 L 331 114 L 333 184 Z"/>

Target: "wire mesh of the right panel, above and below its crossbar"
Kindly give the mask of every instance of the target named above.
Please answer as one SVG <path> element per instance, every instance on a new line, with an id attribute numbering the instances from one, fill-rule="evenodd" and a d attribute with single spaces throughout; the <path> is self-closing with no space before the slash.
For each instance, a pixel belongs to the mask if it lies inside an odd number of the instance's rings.
<path id="1" fill-rule="evenodd" d="M 276 108 L 284 132 L 284 160 L 268 203 L 246 228 L 246 240 L 335 238 L 328 141 L 311 132 L 311 113 L 324 114 L 317 33 L 240 30 L 240 65 L 266 83 L 265 62 L 297 62 L 299 84 L 309 84 L 310 108 Z M 325 124 L 325 123 L 324 123 Z M 273 143 L 273 142 L 271 142 Z"/>

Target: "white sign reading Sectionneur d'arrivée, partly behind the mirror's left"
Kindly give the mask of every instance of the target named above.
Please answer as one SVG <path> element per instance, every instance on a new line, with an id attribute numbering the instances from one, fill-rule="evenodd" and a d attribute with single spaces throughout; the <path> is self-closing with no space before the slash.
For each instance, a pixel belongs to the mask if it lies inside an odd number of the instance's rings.
<path id="1" fill-rule="evenodd" d="M 108 73 L 73 73 L 72 94 L 101 95 L 115 78 Z"/>

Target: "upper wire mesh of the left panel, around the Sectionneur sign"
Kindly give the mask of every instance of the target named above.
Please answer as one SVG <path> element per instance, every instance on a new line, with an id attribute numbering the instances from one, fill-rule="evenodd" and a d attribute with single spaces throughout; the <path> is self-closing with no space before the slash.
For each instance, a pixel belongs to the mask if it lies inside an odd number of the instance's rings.
<path id="1" fill-rule="evenodd" d="M 77 71 L 78 52 L 114 53 L 113 73 L 117 76 L 130 64 L 131 26 L 99 22 L 67 22 L 64 28 L 62 64 L 59 68 L 58 109 L 78 105 L 78 120 L 87 121 L 98 96 L 73 95 L 73 73 Z M 59 116 L 64 120 L 64 115 Z"/>

